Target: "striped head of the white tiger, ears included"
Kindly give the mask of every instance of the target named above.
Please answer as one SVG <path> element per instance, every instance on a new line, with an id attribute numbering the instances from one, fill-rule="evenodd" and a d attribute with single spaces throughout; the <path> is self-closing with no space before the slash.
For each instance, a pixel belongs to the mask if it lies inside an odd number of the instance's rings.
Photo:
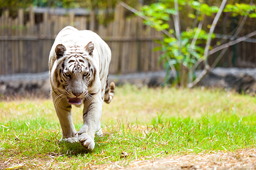
<path id="1" fill-rule="evenodd" d="M 88 87 L 96 74 L 93 50 L 92 42 L 83 48 L 75 45 L 67 50 L 63 44 L 55 47 L 56 61 L 52 77 L 55 88 L 61 93 L 60 97 L 67 98 L 69 104 L 80 105 L 88 96 Z"/>

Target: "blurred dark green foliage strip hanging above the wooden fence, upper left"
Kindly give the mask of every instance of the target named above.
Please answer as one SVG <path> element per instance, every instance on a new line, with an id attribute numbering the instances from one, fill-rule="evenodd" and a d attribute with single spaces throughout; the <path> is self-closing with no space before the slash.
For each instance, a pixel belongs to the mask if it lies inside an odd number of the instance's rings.
<path id="1" fill-rule="evenodd" d="M 138 8 L 142 5 L 149 5 L 157 2 L 156 0 L 123 0 L 122 2 Z M 31 4 L 34 7 L 49 8 L 84 8 L 89 10 L 101 10 L 97 18 L 101 24 L 107 25 L 114 18 L 114 8 L 116 0 L 0 0 L 0 16 L 4 10 L 8 9 L 12 17 L 17 16 L 19 8 L 28 8 Z"/>

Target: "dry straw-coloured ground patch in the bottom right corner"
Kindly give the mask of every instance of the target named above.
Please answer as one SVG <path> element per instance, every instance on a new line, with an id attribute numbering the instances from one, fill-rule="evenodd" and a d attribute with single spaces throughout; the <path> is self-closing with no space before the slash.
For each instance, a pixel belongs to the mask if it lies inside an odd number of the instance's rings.
<path id="1" fill-rule="evenodd" d="M 124 166 L 125 165 L 125 166 Z M 91 169 L 255 169 L 256 149 L 237 152 L 204 152 L 168 158 L 125 161 L 90 166 Z"/>

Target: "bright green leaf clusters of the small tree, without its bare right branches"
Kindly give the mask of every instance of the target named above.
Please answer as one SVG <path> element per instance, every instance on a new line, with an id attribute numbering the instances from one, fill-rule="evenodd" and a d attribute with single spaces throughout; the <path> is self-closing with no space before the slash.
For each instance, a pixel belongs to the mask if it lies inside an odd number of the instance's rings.
<path id="1" fill-rule="evenodd" d="M 145 25 L 164 32 L 163 40 L 156 41 L 161 46 L 155 48 L 155 51 L 163 52 L 159 61 L 164 63 L 166 83 L 173 81 L 174 76 L 175 84 L 181 87 L 193 86 L 197 78 L 195 70 L 202 61 L 206 61 L 205 67 L 209 72 L 208 51 L 213 49 L 210 46 L 211 39 L 215 38 L 214 30 L 219 18 L 216 23 L 212 20 L 219 11 L 228 12 L 232 17 L 256 17 L 256 6 L 252 0 L 241 1 L 241 4 L 238 1 L 227 1 L 227 5 L 223 4 L 224 10 L 219 9 L 222 2 L 225 1 L 158 0 L 141 7 L 140 15 L 145 16 Z M 239 34 L 241 30 L 236 31 L 235 34 Z M 215 44 L 219 45 L 220 42 Z"/>

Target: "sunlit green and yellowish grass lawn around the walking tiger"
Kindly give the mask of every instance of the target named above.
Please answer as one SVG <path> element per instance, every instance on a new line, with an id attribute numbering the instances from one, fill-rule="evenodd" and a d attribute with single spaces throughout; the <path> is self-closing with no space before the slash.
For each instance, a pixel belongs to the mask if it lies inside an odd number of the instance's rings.
<path id="1" fill-rule="evenodd" d="M 79 169 L 113 161 L 124 166 L 132 160 L 254 148 L 255 105 L 254 97 L 218 89 L 125 85 L 116 89 L 110 105 L 103 105 L 104 136 L 96 138 L 95 149 L 88 152 L 79 143 L 59 142 L 61 129 L 51 100 L 0 102 L 0 163 Z M 74 108 L 73 118 L 79 130 L 81 108 Z M 122 152 L 128 156 L 120 158 Z"/>

